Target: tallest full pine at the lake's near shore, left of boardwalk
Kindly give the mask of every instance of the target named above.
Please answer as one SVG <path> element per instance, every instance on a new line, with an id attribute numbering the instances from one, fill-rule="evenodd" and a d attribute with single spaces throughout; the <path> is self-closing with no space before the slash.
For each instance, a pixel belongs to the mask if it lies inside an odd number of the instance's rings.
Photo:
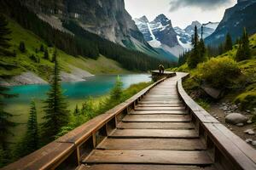
<path id="1" fill-rule="evenodd" d="M 43 117 L 42 131 L 46 142 L 55 139 L 55 135 L 60 133 L 61 127 L 66 126 L 69 119 L 66 98 L 61 90 L 60 67 L 56 56 L 57 54 L 55 53 L 55 69 L 50 82 L 48 99 L 44 101 L 45 115 Z"/>

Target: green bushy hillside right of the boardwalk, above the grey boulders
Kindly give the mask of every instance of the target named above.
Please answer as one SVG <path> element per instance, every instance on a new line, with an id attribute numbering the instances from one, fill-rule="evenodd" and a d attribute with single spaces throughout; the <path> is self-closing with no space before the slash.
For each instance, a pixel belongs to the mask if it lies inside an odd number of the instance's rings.
<path id="1" fill-rule="evenodd" d="M 190 73 L 183 86 L 195 99 L 206 99 L 201 93 L 201 85 L 207 83 L 223 91 L 222 99 L 236 103 L 241 110 L 253 111 L 256 108 L 256 34 L 249 40 L 252 54 L 250 59 L 236 62 L 238 45 L 234 45 L 232 50 L 208 59 L 193 70 L 187 64 L 171 70 Z"/>

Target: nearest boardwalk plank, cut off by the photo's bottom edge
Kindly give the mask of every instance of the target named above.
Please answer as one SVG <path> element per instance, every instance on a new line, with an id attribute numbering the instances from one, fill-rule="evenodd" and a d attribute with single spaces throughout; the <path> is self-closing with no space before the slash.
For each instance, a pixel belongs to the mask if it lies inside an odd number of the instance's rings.
<path id="1" fill-rule="evenodd" d="M 173 165 L 139 165 L 139 164 L 95 164 L 81 165 L 78 170 L 216 170 L 210 167 L 173 166 Z"/>

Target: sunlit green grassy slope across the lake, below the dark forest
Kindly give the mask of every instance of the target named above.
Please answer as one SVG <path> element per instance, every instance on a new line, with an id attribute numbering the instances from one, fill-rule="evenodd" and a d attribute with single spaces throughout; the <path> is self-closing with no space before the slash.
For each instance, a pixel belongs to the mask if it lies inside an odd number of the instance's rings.
<path id="1" fill-rule="evenodd" d="M 10 77 L 19 75 L 20 72 L 33 71 L 38 76 L 48 80 L 49 73 L 53 67 L 53 63 L 50 59 L 54 53 L 54 48 L 47 47 L 46 43 L 40 37 L 36 36 L 31 31 L 23 29 L 14 20 L 8 20 L 9 28 L 12 31 L 10 35 L 10 44 L 12 47 L 10 50 L 15 51 L 16 56 L 1 57 L 0 62 L 5 66 L 0 67 L 0 77 Z M 19 50 L 20 42 L 25 42 L 25 53 L 21 53 Z M 44 59 L 44 52 L 39 50 L 41 45 L 48 49 L 49 59 Z M 73 57 L 61 50 L 57 51 L 63 71 L 70 72 L 69 65 L 72 65 L 84 71 L 89 71 L 92 74 L 128 72 L 121 68 L 119 63 L 112 59 L 107 59 L 104 56 L 100 56 L 97 60 L 94 60 L 84 57 Z M 40 59 L 39 63 L 30 59 L 32 54 Z"/>

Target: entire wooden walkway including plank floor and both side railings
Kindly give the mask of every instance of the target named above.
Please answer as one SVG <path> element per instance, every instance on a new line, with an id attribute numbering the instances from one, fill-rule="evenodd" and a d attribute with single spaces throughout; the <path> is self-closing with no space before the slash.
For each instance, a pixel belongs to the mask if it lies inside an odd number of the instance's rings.
<path id="1" fill-rule="evenodd" d="M 165 74 L 3 170 L 256 170 L 256 151 L 186 94 L 188 74 Z"/>

